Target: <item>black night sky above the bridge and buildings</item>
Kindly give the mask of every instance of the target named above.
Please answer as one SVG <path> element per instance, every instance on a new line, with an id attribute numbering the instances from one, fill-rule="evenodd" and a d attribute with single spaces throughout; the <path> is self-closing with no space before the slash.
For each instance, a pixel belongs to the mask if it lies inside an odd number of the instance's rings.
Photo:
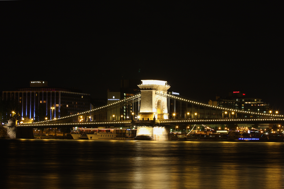
<path id="1" fill-rule="evenodd" d="M 0 90 L 46 80 L 106 98 L 122 77 L 156 79 L 201 101 L 243 90 L 281 111 L 282 16 L 245 7 L 15 1 L 0 11 Z"/>

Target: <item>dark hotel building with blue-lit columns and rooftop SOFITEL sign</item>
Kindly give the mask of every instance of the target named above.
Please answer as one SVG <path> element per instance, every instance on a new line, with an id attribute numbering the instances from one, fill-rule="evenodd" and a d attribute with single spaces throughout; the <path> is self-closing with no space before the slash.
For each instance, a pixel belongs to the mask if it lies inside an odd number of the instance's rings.
<path id="1" fill-rule="evenodd" d="M 22 107 L 22 116 L 30 119 L 37 116 L 35 111 L 40 104 L 46 105 L 48 119 L 58 118 L 60 108 L 66 108 L 68 114 L 90 110 L 90 94 L 76 89 L 48 87 L 47 81 L 30 81 L 29 88 L 3 91 L 2 97 L 18 102 Z M 54 107 L 53 110 L 52 107 Z"/>

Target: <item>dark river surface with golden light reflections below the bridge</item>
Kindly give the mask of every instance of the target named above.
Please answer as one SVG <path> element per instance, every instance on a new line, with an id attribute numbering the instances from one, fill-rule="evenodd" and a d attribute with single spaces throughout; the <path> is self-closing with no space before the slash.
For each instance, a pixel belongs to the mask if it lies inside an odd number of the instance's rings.
<path id="1" fill-rule="evenodd" d="M 0 139 L 1 188 L 284 188 L 284 143 Z"/>

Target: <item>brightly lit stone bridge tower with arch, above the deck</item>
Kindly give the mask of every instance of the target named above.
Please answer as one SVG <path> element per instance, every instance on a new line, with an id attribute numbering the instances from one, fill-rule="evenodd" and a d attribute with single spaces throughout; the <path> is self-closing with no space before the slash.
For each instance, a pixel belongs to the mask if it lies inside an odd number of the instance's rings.
<path id="1" fill-rule="evenodd" d="M 166 81 L 141 81 L 142 84 L 138 85 L 141 90 L 140 119 L 153 120 L 154 114 L 156 119 L 168 119 L 167 97 L 159 94 L 167 94 L 170 86 L 166 84 Z"/>

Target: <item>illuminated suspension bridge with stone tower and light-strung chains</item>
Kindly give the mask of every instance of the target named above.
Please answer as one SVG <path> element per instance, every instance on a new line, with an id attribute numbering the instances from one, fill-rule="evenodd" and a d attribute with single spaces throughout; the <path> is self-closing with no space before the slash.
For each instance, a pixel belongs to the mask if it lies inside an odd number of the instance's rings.
<path id="1" fill-rule="evenodd" d="M 142 80 L 138 85 L 141 92 L 90 111 L 68 115 L 53 120 L 20 124 L 23 128 L 59 128 L 62 126 L 96 128 L 111 126 L 136 126 L 137 135 L 153 132 L 155 128 L 163 130 L 158 135 L 169 133 L 171 125 L 194 124 L 280 124 L 283 115 L 265 114 L 253 111 L 241 111 L 229 107 L 209 105 L 208 103 L 173 95 L 166 81 Z M 122 116 L 125 107 L 131 111 L 127 118 Z M 110 112 L 119 110 L 119 115 Z M 158 129 L 158 130 L 159 130 Z M 157 130 L 157 129 L 156 129 Z M 162 133 L 162 134 L 161 134 Z M 157 140 L 167 137 L 157 137 Z"/>

